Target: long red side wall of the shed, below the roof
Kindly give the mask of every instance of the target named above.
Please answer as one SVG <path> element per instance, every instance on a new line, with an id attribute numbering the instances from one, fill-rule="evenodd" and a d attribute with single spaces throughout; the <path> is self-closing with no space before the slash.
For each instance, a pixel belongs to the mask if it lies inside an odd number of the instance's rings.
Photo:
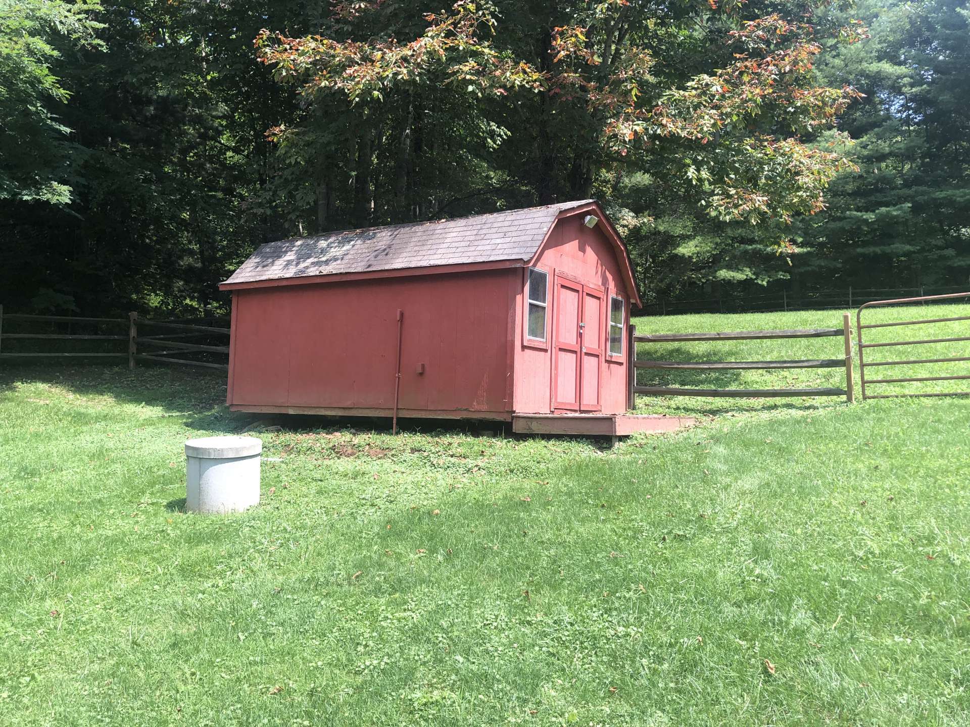
<path id="1" fill-rule="evenodd" d="M 230 403 L 510 411 L 510 278 L 520 270 L 241 290 Z M 418 373 L 423 364 L 423 373 Z"/>

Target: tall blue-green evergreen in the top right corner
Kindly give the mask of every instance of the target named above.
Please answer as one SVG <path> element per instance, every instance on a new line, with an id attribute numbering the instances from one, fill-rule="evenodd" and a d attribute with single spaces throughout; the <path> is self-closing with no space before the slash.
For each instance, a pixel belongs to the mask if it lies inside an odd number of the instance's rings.
<path id="1" fill-rule="evenodd" d="M 966 283 L 970 270 L 970 6 L 874 2 L 872 40 L 840 48 L 829 79 L 864 92 L 841 122 L 861 174 L 839 177 L 828 211 L 805 220 L 805 275 L 872 286 Z"/>

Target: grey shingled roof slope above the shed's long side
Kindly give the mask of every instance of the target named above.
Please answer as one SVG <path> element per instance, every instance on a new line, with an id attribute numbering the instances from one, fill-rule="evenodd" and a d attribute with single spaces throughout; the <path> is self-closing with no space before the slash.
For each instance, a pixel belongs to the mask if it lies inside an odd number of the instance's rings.
<path id="1" fill-rule="evenodd" d="M 267 242 L 225 282 L 531 260 L 560 212 L 592 202 L 582 200 Z"/>

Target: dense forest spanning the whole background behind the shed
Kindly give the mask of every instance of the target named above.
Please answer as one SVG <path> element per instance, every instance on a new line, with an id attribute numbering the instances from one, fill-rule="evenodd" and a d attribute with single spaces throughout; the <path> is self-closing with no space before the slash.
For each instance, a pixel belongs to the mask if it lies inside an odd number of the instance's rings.
<path id="1" fill-rule="evenodd" d="M 0 303 L 595 197 L 645 300 L 970 282 L 967 0 L 0 0 Z"/>

